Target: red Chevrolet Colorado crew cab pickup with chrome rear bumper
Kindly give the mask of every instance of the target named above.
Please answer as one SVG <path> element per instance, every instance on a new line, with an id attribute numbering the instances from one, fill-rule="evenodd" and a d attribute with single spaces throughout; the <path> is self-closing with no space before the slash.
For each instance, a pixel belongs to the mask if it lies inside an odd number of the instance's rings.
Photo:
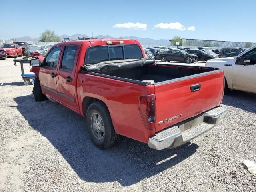
<path id="1" fill-rule="evenodd" d="M 96 39 L 55 44 L 30 61 L 34 98 L 59 102 L 86 118 L 99 148 L 119 135 L 161 150 L 180 146 L 220 122 L 224 72 L 157 64 L 137 40 Z"/>

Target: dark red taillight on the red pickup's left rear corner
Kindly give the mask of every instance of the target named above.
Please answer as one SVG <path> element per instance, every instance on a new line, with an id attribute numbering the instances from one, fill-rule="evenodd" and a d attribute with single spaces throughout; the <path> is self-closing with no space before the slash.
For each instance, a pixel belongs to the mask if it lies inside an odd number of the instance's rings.
<path id="1" fill-rule="evenodd" d="M 140 114 L 147 129 L 155 129 L 156 99 L 155 95 L 140 96 Z"/>

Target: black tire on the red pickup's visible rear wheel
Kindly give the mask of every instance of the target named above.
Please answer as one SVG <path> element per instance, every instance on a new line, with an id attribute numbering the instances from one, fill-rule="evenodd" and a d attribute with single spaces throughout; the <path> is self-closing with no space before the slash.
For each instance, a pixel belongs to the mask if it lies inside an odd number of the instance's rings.
<path id="1" fill-rule="evenodd" d="M 96 136 L 96 130 L 93 126 L 98 127 L 94 121 L 94 116 L 100 115 L 102 124 L 104 126 L 104 133 L 102 138 Z M 94 123 L 94 124 L 93 124 Z M 97 121 L 98 123 L 98 121 Z M 90 138 L 95 146 L 100 149 L 107 149 L 116 144 L 119 135 L 115 132 L 108 108 L 99 101 L 90 104 L 86 113 L 86 125 Z M 101 128 L 99 128 L 101 130 Z"/>

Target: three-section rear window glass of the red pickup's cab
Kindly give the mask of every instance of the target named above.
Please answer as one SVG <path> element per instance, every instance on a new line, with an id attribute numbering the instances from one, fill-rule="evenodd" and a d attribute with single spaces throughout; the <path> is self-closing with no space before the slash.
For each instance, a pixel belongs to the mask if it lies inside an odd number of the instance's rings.
<path id="1" fill-rule="evenodd" d="M 92 46 L 86 51 L 84 64 L 94 64 L 104 61 L 143 58 L 138 45 L 123 46 Z"/>

